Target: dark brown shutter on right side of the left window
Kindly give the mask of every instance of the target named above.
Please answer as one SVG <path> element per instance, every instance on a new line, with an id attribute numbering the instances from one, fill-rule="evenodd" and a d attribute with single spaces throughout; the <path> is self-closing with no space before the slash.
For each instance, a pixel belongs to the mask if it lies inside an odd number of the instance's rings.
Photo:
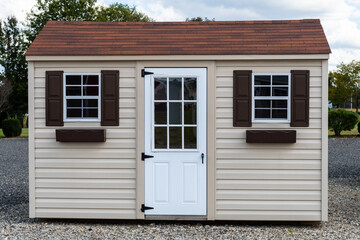
<path id="1" fill-rule="evenodd" d="M 119 126 L 119 71 L 101 71 L 101 126 Z"/>

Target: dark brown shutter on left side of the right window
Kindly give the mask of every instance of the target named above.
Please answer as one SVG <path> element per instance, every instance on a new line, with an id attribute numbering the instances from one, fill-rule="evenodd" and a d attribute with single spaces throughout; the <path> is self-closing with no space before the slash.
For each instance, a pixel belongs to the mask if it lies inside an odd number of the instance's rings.
<path id="1" fill-rule="evenodd" d="M 233 125 L 251 127 L 252 71 L 235 70 L 233 85 Z"/>

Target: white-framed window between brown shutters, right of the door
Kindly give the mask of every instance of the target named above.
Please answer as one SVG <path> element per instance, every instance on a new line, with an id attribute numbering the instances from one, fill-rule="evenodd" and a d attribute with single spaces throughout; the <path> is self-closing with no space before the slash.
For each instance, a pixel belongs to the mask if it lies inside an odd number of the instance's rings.
<path id="1" fill-rule="evenodd" d="M 253 121 L 290 122 L 290 74 L 253 74 Z"/>

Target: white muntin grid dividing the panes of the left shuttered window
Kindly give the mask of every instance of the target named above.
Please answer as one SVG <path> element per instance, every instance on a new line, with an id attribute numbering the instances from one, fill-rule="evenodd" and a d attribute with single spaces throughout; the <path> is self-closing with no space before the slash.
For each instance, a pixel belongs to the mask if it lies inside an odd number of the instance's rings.
<path id="1" fill-rule="evenodd" d="M 80 83 L 81 84 L 67 84 L 67 76 L 80 76 Z M 84 84 L 84 76 L 97 76 L 98 77 L 98 84 Z M 64 79 L 63 79 L 63 98 L 64 98 L 64 121 L 100 121 L 100 113 L 101 113 L 101 102 L 100 102 L 100 95 L 101 95 L 101 75 L 98 73 L 65 73 Z M 66 95 L 66 88 L 67 87 L 80 87 L 81 90 L 81 96 L 67 96 Z M 98 95 L 97 96 L 84 96 L 84 87 L 97 87 L 98 88 Z M 97 100 L 98 107 L 85 107 L 84 103 L 81 101 L 81 108 L 80 107 L 67 107 L 67 101 L 71 99 L 80 99 L 80 100 L 86 100 L 86 99 L 92 99 Z M 67 117 L 67 110 L 68 109 L 80 109 L 81 110 L 81 117 Z M 84 115 L 84 109 L 97 109 L 97 117 L 83 117 Z"/>

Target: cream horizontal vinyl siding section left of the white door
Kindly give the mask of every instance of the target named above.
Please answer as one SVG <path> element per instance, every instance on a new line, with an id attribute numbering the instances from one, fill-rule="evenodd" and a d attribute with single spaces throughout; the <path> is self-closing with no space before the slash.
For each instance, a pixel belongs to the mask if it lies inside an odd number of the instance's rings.
<path id="1" fill-rule="evenodd" d="M 65 122 L 45 126 L 45 71 L 119 70 L 119 126 Z M 136 63 L 35 62 L 35 217 L 136 218 Z M 57 128 L 105 128 L 104 143 L 60 143 Z"/>

